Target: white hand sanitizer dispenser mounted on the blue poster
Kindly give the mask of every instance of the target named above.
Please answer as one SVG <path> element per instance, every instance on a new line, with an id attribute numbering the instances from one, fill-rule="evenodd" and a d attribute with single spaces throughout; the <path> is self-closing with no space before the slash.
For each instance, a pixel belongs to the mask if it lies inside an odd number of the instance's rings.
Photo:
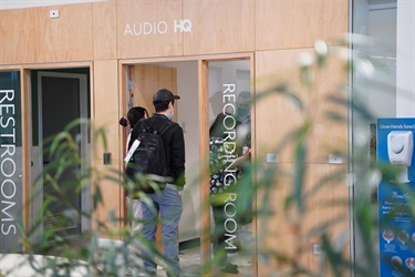
<path id="1" fill-rule="evenodd" d="M 408 167 L 412 164 L 414 140 L 411 131 L 392 131 L 387 134 L 390 163 L 400 166 L 397 181 L 408 183 Z"/>

